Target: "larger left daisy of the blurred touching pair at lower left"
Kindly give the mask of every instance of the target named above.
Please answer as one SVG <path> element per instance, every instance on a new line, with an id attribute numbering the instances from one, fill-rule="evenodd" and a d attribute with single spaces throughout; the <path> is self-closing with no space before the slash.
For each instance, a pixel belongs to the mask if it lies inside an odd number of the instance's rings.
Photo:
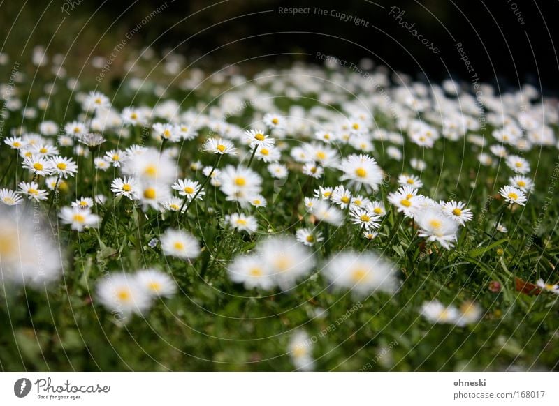
<path id="1" fill-rule="evenodd" d="M 121 322 L 132 313 L 145 313 L 152 303 L 150 294 L 138 283 L 136 276 L 124 272 L 108 273 L 97 283 L 96 297 L 107 310 L 120 315 Z"/>

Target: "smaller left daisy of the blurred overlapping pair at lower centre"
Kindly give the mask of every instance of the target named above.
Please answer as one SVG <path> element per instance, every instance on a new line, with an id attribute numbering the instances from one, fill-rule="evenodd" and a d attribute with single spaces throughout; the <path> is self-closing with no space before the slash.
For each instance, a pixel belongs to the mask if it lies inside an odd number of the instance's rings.
<path id="1" fill-rule="evenodd" d="M 259 287 L 270 290 L 275 285 L 271 269 L 263 257 L 239 255 L 227 266 L 227 274 L 235 283 L 242 283 L 246 289 Z"/>

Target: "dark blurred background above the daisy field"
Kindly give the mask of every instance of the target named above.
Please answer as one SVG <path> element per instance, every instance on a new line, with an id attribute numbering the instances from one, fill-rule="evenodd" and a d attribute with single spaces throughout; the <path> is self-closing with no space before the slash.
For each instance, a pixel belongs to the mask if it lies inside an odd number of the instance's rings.
<path id="1" fill-rule="evenodd" d="M 61 8 L 67 4 L 68 14 Z M 68 7 L 73 3 L 73 6 Z M 0 6 L 4 50 L 29 52 L 41 43 L 50 50 L 86 60 L 103 57 L 146 15 L 164 4 L 143 1 L 26 1 Z M 129 45 L 151 44 L 184 54 L 194 66 L 216 68 L 245 59 L 243 66 L 303 60 L 319 63 L 314 54 L 333 54 L 358 62 L 370 57 L 391 70 L 441 80 L 452 75 L 467 80 L 464 61 L 454 44 L 463 43 L 480 80 L 501 89 L 530 82 L 557 90 L 558 0 L 167 0 L 166 8 L 131 38 Z M 440 49 L 433 54 L 389 15 L 391 6 L 405 10 L 402 20 Z M 320 7 L 356 15 L 369 27 L 356 27 L 330 15 L 285 15 L 278 7 Z M 512 8 L 522 17 L 520 24 Z M 205 8 L 205 10 L 203 10 Z M 266 10 L 272 10 L 266 13 Z M 213 26 L 213 27 L 212 27 Z M 127 45 L 127 47 L 129 47 Z M 304 53 L 312 54 L 305 56 Z M 121 52 L 119 57 L 126 53 Z M 284 55 L 279 55 L 284 54 Z M 267 56 L 268 55 L 268 56 Z M 200 58 L 200 59 L 198 59 Z"/>

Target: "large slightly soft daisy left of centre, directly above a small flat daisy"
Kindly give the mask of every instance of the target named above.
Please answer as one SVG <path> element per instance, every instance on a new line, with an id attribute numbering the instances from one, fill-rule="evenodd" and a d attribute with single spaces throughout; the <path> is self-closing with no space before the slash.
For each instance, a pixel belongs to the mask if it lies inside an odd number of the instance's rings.
<path id="1" fill-rule="evenodd" d="M 219 189 L 227 200 L 247 204 L 249 199 L 261 192 L 262 179 L 253 170 L 239 165 L 227 165 L 219 174 Z"/>

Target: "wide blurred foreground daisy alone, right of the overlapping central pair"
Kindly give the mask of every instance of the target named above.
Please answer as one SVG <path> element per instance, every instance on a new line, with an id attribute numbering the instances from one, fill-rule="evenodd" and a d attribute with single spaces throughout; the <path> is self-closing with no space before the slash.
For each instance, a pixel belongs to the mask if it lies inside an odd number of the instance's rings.
<path id="1" fill-rule="evenodd" d="M 370 252 L 337 253 L 328 260 L 324 273 L 332 285 L 353 290 L 359 296 L 377 291 L 393 293 L 398 287 L 394 266 Z"/>

